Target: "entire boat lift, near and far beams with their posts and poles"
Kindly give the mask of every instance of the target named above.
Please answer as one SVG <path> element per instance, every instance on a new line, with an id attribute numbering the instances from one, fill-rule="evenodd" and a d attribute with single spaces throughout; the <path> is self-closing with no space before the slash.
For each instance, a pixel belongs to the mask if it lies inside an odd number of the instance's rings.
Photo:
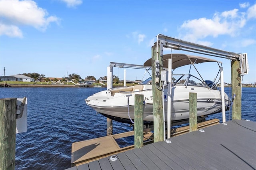
<path id="1" fill-rule="evenodd" d="M 152 53 L 152 62 L 155 61 L 155 63 L 152 63 L 152 67 L 145 67 L 144 65 L 134 65 L 134 64 L 126 64 L 126 63 L 114 63 L 110 62 L 110 67 L 107 68 L 107 76 L 108 76 L 108 83 L 107 83 L 107 88 L 110 89 L 112 88 L 112 78 L 113 78 L 113 67 L 122 67 L 122 68 L 136 68 L 136 69 L 152 69 L 152 78 L 154 79 L 155 83 L 153 83 L 153 91 L 161 90 L 161 84 L 163 81 L 164 76 L 161 77 L 161 74 L 164 75 L 164 71 L 162 71 L 162 57 L 164 55 L 164 47 L 165 48 L 170 48 L 170 49 L 176 49 L 176 50 L 183 50 L 183 51 L 188 51 L 192 53 L 199 53 L 203 55 L 209 55 L 213 57 L 220 57 L 220 58 L 226 58 L 230 59 L 232 61 L 232 93 L 233 93 L 233 109 L 232 109 L 232 119 L 241 119 L 241 93 L 242 93 L 242 83 L 241 83 L 241 75 L 243 76 L 244 74 L 247 74 L 249 71 L 248 67 L 248 60 L 247 60 L 247 54 L 246 53 L 234 53 L 234 52 L 229 52 L 229 51 L 223 51 L 220 49 L 215 49 L 212 47 L 207 47 L 204 45 L 199 45 L 196 43 L 191 43 L 191 42 L 186 42 L 183 40 L 179 40 L 176 38 L 172 38 L 170 36 L 165 36 L 163 34 L 158 34 L 156 36 L 157 40 L 154 43 L 155 45 L 152 47 L 152 50 L 156 48 L 156 53 Z M 155 57 L 153 61 L 153 57 Z M 171 99 L 172 99 L 172 94 L 171 94 L 171 73 L 172 73 L 172 61 L 169 59 L 168 61 L 169 66 L 168 66 L 168 77 L 164 77 L 164 79 L 168 82 L 168 120 L 167 120 L 167 126 L 168 126 L 168 133 L 167 136 L 170 138 L 170 122 L 171 122 Z M 237 76 L 237 77 L 236 77 Z M 154 82 L 153 81 L 153 82 Z M 222 122 L 226 122 L 226 117 L 225 117 L 225 103 L 224 103 L 224 79 L 223 79 L 223 67 L 220 68 L 220 84 L 221 84 L 221 96 L 222 96 Z M 155 85 L 155 86 L 154 86 Z M 236 99 L 235 99 L 236 97 Z M 153 102 L 156 99 L 156 97 L 153 98 Z M 156 102 L 156 101 L 155 101 Z M 157 110 L 157 109 L 156 109 Z M 157 110 L 156 112 L 159 112 Z M 162 114 L 162 113 L 158 113 Z M 155 113 L 154 113 L 155 117 Z M 157 117 L 157 116 L 156 116 Z M 158 118 L 157 118 L 158 119 Z M 165 120 L 160 120 L 159 122 L 162 122 L 165 124 Z M 155 121 L 154 121 L 155 124 Z M 160 123 L 156 123 L 156 126 L 154 127 L 159 127 Z M 164 128 L 165 129 L 165 128 Z M 107 120 L 107 135 L 112 134 L 112 120 L 108 119 Z M 110 132 L 111 131 L 111 132 Z M 158 134 L 155 134 L 155 136 L 158 136 Z M 161 136 L 161 135 L 160 135 Z M 162 137 L 160 137 L 162 138 Z M 165 137 L 164 137 L 165 138 Z M 155 141 L 158 141 L 158 139 L 154 139 Z M 162 139 L 160 139 L 162 141 Z"/>

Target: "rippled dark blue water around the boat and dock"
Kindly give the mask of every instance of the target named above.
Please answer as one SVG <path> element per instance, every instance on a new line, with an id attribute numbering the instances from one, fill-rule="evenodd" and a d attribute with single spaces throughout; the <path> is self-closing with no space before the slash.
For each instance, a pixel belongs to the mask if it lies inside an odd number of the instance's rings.
<path id="1" fill-rule="evenodd" d="M 106 136 L 106 117 L 85 104 L 106 88 L 0 88 L 0 98 L 28 98 L 28 132 L 16 135 L 16 169 L 63 170 L 71 166 L 73 142 Z M 229 89 L 225 88 L 226 93 Z M 256 121 L 256 88 L 242 88 L 242 119 Z M 231 113 L 226 113 L 229 120 Z M 222 113 L 209 118 L 222 120 Z M 230 118 L 231 119 L 231 118 Z M 113 121 L 113 134 L 132 130 Z M 120 144 L 133 142 L 131 138 Z"/>

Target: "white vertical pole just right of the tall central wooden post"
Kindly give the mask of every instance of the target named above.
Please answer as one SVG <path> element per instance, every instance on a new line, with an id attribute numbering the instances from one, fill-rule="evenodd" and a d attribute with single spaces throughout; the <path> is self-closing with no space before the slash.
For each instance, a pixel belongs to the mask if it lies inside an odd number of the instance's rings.
<path id="1" fill-rule="evenodd" d="M 168 59 L 167 138 L 171 137 L 171 119 L 172 119 L 172 59 Z"/>

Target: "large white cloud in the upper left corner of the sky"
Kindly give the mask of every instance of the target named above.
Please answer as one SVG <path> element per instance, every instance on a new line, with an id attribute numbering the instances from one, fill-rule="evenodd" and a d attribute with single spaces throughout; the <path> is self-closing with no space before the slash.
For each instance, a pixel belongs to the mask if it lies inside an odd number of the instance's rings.
<path id="1" fill-rule="evenodd" d="M 0 15 L 1 18 L 4 18 L 4 20 L 1 20 L 1 24 L 5 25 L 6 29 L 10 29 L 5 30 L 9 32 L 8 36 L 20 37 L 20 34 L 22 34 L 20 28 L 18 28 L 20 25 L 28 25 L 45 31 L 51 22 L 58 24 L 60 20 L 56 16 L 48 16 L 48 12 L 38 7 L 36 2 L 32 0 L 0 0 L 0 2 Z M 2 23 L 3 21 L 5 23 Z M 12 30 L 17 30 L 19 34 Z M 12 32 L 13 34 L 11 34 Z"/>

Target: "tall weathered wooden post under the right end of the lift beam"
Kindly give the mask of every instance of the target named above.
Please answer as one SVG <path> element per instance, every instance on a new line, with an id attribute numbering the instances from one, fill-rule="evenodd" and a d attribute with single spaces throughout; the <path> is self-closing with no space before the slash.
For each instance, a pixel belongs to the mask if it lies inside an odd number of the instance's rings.
<path id="1" fill-rule="evenodd" d="M 240 60 L 231 61 L 231 84 L 233 95 L 232 119 L 241 120 L 242 83 Z"/>

